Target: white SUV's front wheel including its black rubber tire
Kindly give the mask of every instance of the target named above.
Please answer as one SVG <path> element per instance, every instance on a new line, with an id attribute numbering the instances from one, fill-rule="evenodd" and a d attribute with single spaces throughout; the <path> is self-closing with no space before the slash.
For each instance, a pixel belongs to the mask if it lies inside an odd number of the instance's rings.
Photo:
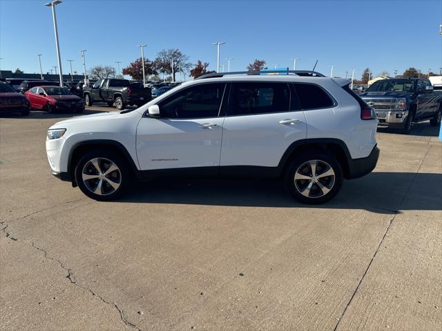
<path id="1" fill-rule="evenodd" d="M 97 170 L 94 163 L 98 160 L 97 165 L 100 170 Z M 104 175 L 108 170 L 110 164 L 116 165 L 117 170 L 111 171 L 109 174 Z M 101 176 L 99 172 L 101 172 Z M 86 176 L 97 176 L 97 178 L 84 179 Z M 85 154 L 75 166 L 75 181 L 77 182 L 81 192 L 86 194 L 91 199 L 97 201 L 111 201 L 119 197 L 130 182 L 130 171 L 126 160 L 116 152 L 111 150 L 94 150 Z M 99 182 L 102 182 L 100 188 Z M 114 185 L 117 188 L 114 188 Z M 99 190 L 99 191 L 98 191 Z M 96 192 L 100 192 L 97 194 Z"/>

